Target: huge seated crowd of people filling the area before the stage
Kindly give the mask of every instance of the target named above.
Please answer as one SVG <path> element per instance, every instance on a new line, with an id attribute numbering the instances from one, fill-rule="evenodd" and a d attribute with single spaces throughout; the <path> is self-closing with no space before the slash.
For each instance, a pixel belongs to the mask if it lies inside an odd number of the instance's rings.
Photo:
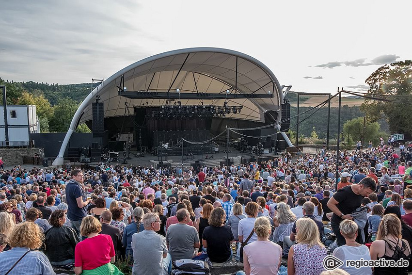
<path id="1" fill-rule="evenodd" d="M 0 274 L 171 274 L 172 262 L 236 259 L 238 275 L 407 274 L 346 265 L 407 259 L 412 162 L 405 148 L 285 154 L 267 162 L 198 167 L 0 170 Z M 405 164 L 406 163 L 406 164 Z"/>

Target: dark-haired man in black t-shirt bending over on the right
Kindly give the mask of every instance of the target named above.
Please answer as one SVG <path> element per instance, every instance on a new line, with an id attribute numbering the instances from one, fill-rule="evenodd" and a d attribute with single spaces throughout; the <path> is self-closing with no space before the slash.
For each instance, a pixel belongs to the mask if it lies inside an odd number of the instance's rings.
<path id="1" fill-rule="evenodd" d="M 353 220 L 350 214 L 360 207 L 363 198 L 372 194 L 375 189 L 375 180 L 366 177 L 358 184 L 342 187 L 328 201 L 327 206 L 333 212 L 331 226 L 338 246 L 346 244 L 345 238 L 340 233 L 339 224 L 345 219 Z"/>

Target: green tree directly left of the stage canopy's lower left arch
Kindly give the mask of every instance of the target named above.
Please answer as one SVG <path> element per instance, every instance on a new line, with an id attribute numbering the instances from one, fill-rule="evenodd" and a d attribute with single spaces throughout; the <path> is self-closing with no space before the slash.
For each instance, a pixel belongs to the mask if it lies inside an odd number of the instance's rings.
<path id="1" fill-rule="evenodd" d="M 67 132 L 78 108 L 79 103 L 73 99 L 67 97 L 60 99 L 58 104 L 53 106 L 53 116 L 49 121 L 50 131 Z"/>

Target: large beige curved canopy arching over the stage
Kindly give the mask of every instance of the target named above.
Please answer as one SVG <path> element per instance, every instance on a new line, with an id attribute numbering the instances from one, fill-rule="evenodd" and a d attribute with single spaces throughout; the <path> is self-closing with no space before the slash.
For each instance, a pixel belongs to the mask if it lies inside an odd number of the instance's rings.
<path id="1" fill-rule="evenodd" d="M 278 113 L 276 122 L 281 120 L 281 86 L 266 65 L 229 49 L 178 49 L 129 65 L 96 87 L 74 115 L 59 157 L 77 125 L 92 120 L 96 96 L 104 103 L 104 116 L 113 117 L 125 114 L 125 102 L 130 107 L 166 105 L 180 95 L 182 105 L 201 105 L 203 101 L 222 106 L 227 101 L 243 106 L 240 113 L 232 112 L 228 118 L 265 122 L 265 113 L 274 111 Z M 129 110 L 133 115 L 134 108 Z"/>

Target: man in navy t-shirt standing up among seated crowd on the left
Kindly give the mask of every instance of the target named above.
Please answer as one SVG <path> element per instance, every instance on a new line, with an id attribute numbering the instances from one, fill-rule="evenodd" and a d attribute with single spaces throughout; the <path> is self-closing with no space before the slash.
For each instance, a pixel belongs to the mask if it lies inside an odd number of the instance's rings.
<path id="1" fill-rule="evenodd" d="M 66 201 L 68 205 L 68 214 L 72 226 L 76 228 L 80 234 L 81 220 L 87 216 L 86 206 L 89 200 L 86 197 L 86 192 L 83 189 L 83 173 L 80 169 L 72 171 L 72 178 L 66 184 Z M 79 239 L 81 236 L 79 235 Z"/>

